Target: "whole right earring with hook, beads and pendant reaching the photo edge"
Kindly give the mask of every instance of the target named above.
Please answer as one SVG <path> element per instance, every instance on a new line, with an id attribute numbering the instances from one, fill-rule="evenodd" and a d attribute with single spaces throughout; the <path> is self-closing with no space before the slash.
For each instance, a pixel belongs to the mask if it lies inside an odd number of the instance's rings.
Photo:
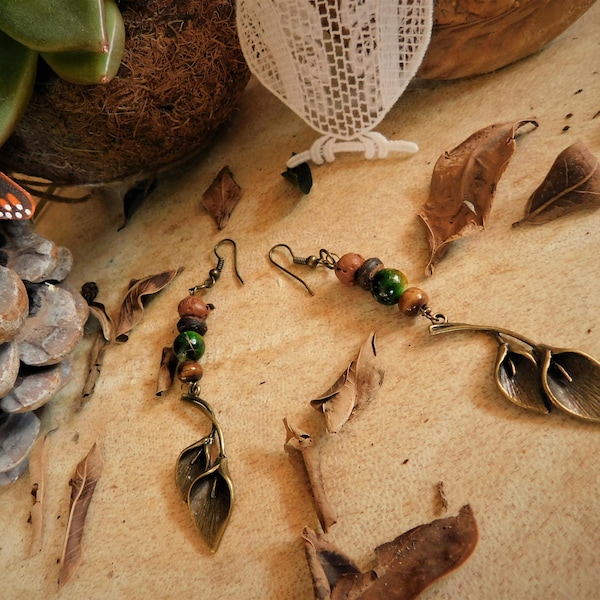
<path id="1" fill-rule="evenodd" d="M 319 256 L 304 258 L 296 256 L 287 244 L 273 246 L 269 251 L 271 262 L 299 281 L 311 295 L 313 291 L 303 279 L 275 260 L 277 250 L 289 252 L 294 264 L 311 268 L 323 266 L 335 271 L 342 284 L 358 285 L 380 304 L 398 305 L 407 317 L 427 318 L 431 335 L 453 331 L 491 335 L 498 343 L 496 385 L 510 402 L 542 414 L 556 407 L 574 417 L 600 422 L 600 362 L 585 352 L 537 344 L 503 327 L 451 323 L 446 315 L 432 311 L 427 292 L 409 286 L 402 271 L 384 267 L 378 258 L 365 260 L 355 253 L 338 258 L 324 249 L 319 251 Z"/>

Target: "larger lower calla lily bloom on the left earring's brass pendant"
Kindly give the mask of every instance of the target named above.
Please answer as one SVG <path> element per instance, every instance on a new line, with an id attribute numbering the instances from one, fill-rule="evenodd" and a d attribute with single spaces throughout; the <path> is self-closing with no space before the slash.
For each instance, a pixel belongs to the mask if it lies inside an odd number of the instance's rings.
<path id="1" fill-rule="evenodd" d="M 233 507 L 233 482 L 229 477 L 226 457 L 194 481 L 188 505 L 198 531 L 211 552 L 216 552 Z"/>

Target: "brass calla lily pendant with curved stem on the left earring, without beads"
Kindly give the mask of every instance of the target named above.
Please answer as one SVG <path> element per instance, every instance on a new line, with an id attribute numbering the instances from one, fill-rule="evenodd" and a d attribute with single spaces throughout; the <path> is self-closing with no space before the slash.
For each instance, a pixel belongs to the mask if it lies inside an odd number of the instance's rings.
<path id="1" fill-rule="evenodd" d="M 199 396 L 181 397 L 198 407 L 212 423 L 209 435 L 188 446 L 179 455 L 175 484 L 200 535 L 216 552 L 233 508 L 233 482 L 229 476 L 223 432 L 211 406 Z"/>

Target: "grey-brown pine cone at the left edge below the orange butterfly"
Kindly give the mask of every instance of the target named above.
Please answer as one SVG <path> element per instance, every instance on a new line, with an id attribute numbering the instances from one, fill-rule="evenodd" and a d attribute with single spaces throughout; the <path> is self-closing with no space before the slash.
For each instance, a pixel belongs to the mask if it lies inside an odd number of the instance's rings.
<path id="1" fill-rule="evenodd" d="M 36 412 L 73 373 L 88 305 L 65 279 L 71 252 L 27 221 L 0 221 L 0 485 L 27 470 Z"/>

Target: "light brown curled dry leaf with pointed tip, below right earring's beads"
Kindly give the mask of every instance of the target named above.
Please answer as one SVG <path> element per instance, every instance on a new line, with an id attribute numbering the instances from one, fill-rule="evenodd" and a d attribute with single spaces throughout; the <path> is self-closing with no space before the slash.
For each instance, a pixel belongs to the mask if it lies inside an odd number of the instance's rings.
<path id="1" fill-rule="evenodd" d="M 311 406 L 322 411 L 329 433 L 337 433 L 352 413 L 373 400 L 383 383 L 384 367 L 377 358 L 376 334 L 372 331 L 363 342 L 358 358 L 352 361 L 338 380 Z"/>

